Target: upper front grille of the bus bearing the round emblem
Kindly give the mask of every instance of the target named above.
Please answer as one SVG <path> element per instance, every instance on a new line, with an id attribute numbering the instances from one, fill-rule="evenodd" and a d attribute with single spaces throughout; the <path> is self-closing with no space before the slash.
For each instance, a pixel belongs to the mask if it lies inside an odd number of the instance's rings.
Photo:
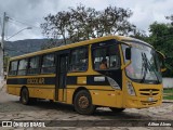
<path id="1" fill-rule="evenodd" d="M 139 89 L 141 95 L 158 95 L 159 89 Z"/>

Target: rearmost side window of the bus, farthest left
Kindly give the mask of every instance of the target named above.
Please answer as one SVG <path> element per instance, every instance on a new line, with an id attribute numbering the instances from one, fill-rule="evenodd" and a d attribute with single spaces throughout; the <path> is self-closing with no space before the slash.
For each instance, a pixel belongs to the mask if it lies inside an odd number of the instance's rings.
<path id="1" fill-rule="evenodd" d="M 17 75 L 17 64 L 18 64 L 18 61 L 13 61 L 10 63 L 9 76 Z"/>

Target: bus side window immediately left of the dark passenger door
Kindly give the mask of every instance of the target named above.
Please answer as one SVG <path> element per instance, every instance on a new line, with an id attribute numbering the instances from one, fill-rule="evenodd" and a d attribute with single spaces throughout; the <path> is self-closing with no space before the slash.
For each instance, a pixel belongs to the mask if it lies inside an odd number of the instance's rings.
<path id="1" fill-rule="evenodd" d="M 55 74 L 55 54 L 42 56 L 41 74 Z"/>

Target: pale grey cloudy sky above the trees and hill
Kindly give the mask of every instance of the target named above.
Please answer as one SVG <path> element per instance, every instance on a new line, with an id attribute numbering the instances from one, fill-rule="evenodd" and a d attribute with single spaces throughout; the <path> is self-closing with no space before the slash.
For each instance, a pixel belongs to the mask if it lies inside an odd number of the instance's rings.
<path id="1" fill-rule="evenodd" d="M 173 0 L 0 0 L 0 34 L 3 12 L 6 12 L 10 20 L 5 25 L 5 39 L 9 41 L 46 38 L 40 28 L 43 17 L 80 3 L 99 11 L 108 5 L 130 9 L 133 15 L 129 21 L 147 34 L 150 24 L 169 23 L 165 16 L 173 14 Z"/>

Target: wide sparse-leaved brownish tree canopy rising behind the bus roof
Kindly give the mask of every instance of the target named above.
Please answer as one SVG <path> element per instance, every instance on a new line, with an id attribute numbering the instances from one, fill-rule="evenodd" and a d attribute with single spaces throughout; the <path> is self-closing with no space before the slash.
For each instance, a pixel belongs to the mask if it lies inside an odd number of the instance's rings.
<path id="1" fill-rule="evenodd" d="M 49 14 L 41 28 L 48 38 L 63 39 L 66 44 L 107 35 L 133 34 L 136 27 L 128 21 L 131 16 L 131 10 L 122 8 L 109 5 L 96 11 L 80 4 L 56 15 Z"/>

